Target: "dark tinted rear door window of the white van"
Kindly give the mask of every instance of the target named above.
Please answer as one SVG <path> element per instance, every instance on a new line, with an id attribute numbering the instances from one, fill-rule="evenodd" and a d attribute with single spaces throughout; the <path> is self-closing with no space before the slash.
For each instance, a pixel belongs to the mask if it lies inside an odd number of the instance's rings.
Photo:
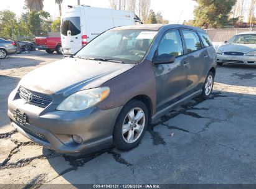
<path id="1" fill-rule="evenodd" d="M 80 17 L 65 17 L 62 19 L 62 35 L 78 35 L 81 33 Z"/>

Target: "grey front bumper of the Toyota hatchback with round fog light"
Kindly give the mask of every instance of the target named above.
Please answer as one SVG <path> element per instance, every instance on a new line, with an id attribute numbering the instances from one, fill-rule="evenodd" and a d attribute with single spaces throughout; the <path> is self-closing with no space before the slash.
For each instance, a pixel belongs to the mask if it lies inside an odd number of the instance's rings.
<path id="1" fill-rule="evenodd" d="M 97 107 L 83 111 L 57 111 L 57 104 L 40 108 L 14 98 L 8 100 L 8 116 L 17 131 L 32 141 L 62 153 L 93 152 L 110 147 L 115 120 L 121 107 L 101 110 Z M 26 114 L 26 124 L 21 125 L 14 112 Z M 72 136 L 82 137 L 82 144 L 73 142 Z"/>

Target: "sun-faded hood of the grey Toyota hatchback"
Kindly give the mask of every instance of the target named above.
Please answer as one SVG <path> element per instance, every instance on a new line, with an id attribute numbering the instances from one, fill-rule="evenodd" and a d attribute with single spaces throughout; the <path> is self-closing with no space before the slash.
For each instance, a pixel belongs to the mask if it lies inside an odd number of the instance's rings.
<path id="1" fill-rule="evenodd" d="M 20 86 L 44 94 L 67 95 L 95 88 L 135 65 L 64 58 L 37 68 L 22 78 Z"/>

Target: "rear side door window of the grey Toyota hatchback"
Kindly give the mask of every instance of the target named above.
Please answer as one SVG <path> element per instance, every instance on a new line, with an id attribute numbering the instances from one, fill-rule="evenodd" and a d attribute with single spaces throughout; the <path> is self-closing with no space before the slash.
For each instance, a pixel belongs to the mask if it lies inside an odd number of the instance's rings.
<path id="1" fill-rule="evenodd" d="M 182 30 L 186 47 L 187 47 L 187 53 L 194 52 L 196 50 L 199 50 L 202 48 L 200 39 L 196 32 L 193 32 L 191 30 Z"/>

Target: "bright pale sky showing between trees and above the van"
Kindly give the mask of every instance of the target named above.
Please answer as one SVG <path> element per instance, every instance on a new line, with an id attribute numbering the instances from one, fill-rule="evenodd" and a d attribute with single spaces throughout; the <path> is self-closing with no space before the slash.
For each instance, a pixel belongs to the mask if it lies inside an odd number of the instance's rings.
<path id="1" fill-rule="evenodd" d="M 80 0 L 80 4 L 110 8 L 109 0 Z M 64 0 L 62 8 L 68 5 L 77 5 L 77 1 Z M 196 6 L 196 2 L 192 0 L 151 0 L 150 9 L 153 9 L 154 12 L 161 12 L 164 19 L 169 21 L 169 24 L 178 24 L 178 22 L 182 24 L 184 20 L 194 18 L 194 6 Z M 24 7 L 24 0 L 1 1 L 0 11 L 9 9 L 20 16 L 22 12 L 25 12 L 22 7 Z M 44 0 L 44 11 L 50 12 L 53 19 L 59 16 L 59 7 L 54 0 Z"/>

